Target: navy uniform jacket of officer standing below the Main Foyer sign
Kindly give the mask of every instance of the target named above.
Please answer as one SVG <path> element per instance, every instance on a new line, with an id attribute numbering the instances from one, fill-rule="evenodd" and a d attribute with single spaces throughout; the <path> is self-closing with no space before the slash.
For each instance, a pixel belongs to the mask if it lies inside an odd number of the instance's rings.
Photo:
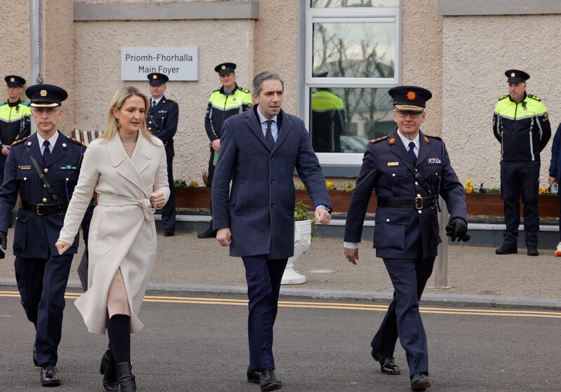
<path id="1" fill-rule="evenodd" d="M 177 132 L 177 121 L 180 115 L 180 106 L 174 100 L 161 97 L 156 106 L 148 109 L 146 125 L 152 135 L 158 137 L 165 146 L 165 154 L 174 156 L 173 137 Z"/>

